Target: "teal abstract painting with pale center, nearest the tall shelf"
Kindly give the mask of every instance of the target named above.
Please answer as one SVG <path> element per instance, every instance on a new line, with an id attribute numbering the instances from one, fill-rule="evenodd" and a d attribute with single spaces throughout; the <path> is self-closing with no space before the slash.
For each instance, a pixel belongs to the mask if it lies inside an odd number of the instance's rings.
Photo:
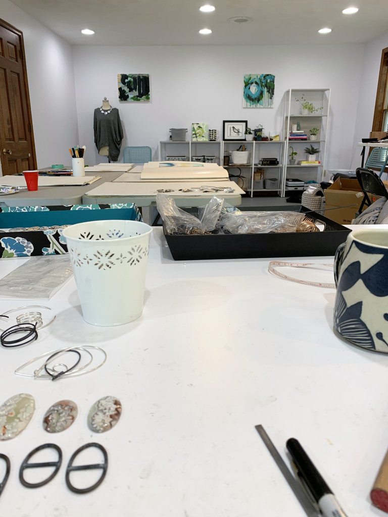
<path id="1" fill-rule="evenodd" d="M 248 73 L 244 75 L 243 108 L 273 108 L 275 75 Z"/>

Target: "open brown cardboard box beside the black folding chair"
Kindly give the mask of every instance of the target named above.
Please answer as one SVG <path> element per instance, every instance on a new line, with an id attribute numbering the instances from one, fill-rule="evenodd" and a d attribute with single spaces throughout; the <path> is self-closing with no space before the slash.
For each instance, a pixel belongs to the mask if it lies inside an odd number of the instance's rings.
<path id="1" fill-rule="evenodd" d="M 356 179 L 337 178 L 333 185 L 325 189 L 324 194 L 325 217 L 339 224 L 351 224 L 355 218 L 355 212 L 359 210 L 364 198 L 359 182 Z M 347 208 L 338 208 L 342 206 L 347 206 Z M 338 209 L 328 210 L 329 208 Z"/>

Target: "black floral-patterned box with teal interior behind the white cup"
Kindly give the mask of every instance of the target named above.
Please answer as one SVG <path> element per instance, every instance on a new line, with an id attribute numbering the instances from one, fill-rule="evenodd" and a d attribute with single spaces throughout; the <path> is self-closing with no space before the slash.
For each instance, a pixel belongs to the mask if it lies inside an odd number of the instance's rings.
<path id="1" fill-rule="evenodd" d="M 106 219 L 142 221 L 134 203 L 0 208 L 0 257 L 67 253 L 61 226 Z"/>

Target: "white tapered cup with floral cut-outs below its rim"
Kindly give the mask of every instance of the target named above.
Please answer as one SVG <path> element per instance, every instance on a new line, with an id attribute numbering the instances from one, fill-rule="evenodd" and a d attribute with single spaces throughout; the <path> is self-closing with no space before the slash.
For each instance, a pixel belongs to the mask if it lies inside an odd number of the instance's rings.
<path id="1" fill-rule="evenodd" d="M 85 322 L 123 325 L 141 315 L 151 231 L 116 219 L 63 230 Z"/>

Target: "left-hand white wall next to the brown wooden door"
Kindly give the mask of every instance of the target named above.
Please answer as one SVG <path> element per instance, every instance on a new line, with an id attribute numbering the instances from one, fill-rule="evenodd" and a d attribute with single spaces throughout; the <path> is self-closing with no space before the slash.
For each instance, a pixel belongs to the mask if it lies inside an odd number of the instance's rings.
<path id="1" fill-rule="evenodd" d="M 78 143 L 76 96 L 70 45 L 8 0 L 0 18 L 23 33 L 37 166 L 70 164 Z"/>

